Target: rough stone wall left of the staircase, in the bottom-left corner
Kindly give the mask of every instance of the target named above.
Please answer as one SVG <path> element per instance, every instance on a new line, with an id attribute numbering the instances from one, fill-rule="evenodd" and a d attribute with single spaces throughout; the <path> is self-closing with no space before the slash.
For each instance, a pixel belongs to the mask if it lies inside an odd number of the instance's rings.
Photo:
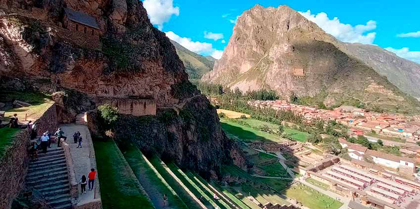
<path id="1" fill-rule="evenodd" d="M 14 137 L 0 160 L 0 208 L 10 208 L 13 199 L 25 186 L 25 176 L 28 172 L 30 133 L 22 130 Z"/>

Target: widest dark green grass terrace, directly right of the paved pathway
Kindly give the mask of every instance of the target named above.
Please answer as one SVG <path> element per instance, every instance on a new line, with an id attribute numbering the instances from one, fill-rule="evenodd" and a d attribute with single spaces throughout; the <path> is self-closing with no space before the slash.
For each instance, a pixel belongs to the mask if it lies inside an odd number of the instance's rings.
<path id="1" fill-rule="evenodd" d="M 113 140 L 93 140 L 103 209 L 154 209 Z"/>

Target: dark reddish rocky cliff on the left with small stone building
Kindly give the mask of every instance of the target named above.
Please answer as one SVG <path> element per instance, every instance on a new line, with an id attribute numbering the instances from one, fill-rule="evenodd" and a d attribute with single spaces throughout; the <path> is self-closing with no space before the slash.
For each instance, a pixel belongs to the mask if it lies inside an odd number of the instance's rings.
<path id="1" fill-rule="evenodd" d="M 157 115 L 124 116 L 116 139 L 207 175 L 244 163 L 142 1 L 0 0 L 0 14 L 0 88 L 64 92 L 61 122 L 97 97 L 153 99 Z"/>

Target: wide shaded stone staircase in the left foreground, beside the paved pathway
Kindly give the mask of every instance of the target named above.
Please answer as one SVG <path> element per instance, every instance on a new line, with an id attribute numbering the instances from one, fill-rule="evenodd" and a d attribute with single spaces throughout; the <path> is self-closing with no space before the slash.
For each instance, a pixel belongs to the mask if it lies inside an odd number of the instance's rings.
<path id="1" fill-rule="evenodd" d="M 45 202 L 54 209 L 71 209 L 70 185 L 66 156 L 62 147 L 49 148 L 31 160 L 26 176 L 26 188 L 42 194 Z"/>

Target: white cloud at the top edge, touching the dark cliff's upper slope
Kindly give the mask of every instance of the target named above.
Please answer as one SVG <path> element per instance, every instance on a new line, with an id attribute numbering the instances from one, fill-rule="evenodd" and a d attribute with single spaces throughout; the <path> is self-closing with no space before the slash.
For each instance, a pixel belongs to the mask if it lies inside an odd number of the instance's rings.
<path id="1" fill-rule="evenodd" d="M 143 6 L 147 10 L 150 22 L 158 25 L 159 30 L 168 22 L 172 15 L 179 15 L 179 7 L 173 7 L 173 0 L 144 0 Z"/>

